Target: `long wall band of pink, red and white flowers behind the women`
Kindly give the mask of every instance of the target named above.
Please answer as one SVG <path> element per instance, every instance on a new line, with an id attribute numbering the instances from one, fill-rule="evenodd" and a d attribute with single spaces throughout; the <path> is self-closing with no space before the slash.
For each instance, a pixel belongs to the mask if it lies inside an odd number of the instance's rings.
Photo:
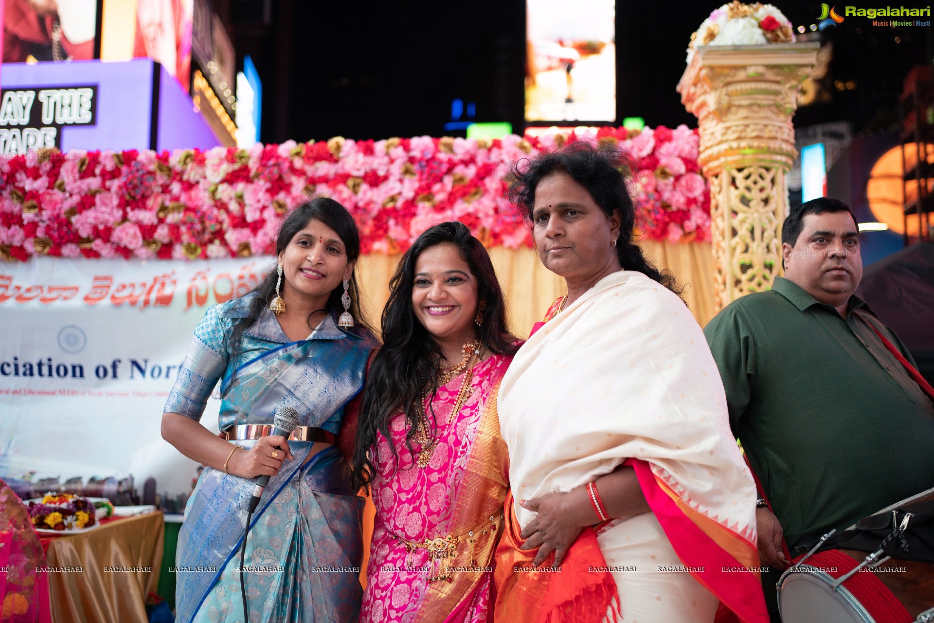
<path id="1" fill-rule="evenodd" d="M 531 245 L 505 197 L 513 163 L 567 141 L 618 145 L 644 238 L 710 238 L 698 135 L 639 131 L 484 139 L 389 138 L 154 151 L 54 149 L 0 158 L 0 257 L 221 258 L 268 254 L 291 208 L 318 195 L 353 214 L 363 253 L 396 253 L 457 219 L 488 247 Z"/>

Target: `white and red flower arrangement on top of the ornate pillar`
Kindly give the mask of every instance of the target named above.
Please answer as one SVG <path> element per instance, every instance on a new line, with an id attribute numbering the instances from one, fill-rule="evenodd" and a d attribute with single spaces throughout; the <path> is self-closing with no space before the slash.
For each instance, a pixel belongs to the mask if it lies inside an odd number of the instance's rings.
<path id="1" fill-rule="evenodd" d="M 758 2 L 744 5 L 733 0 L 711 12 L 691 35 L 687 62 L 691 62 L 697 46 L 755 46 L 794 40 L 791 22 L 778 8 Z"/>

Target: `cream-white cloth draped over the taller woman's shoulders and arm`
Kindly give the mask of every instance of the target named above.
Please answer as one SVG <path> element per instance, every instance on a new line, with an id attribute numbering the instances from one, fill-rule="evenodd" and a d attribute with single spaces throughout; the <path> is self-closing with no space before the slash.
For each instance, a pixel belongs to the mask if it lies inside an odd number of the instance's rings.
<path id="1" fill-rule="evenodd" d="M 690 507 L 756 543 L 756 486 L 710 348 L 686 305 L 642 273 L 603 277 L 532 335 L 498 404 L 517 500 L 641 459 Z M 535 516 L 516 514 L 522 526 Z"/>

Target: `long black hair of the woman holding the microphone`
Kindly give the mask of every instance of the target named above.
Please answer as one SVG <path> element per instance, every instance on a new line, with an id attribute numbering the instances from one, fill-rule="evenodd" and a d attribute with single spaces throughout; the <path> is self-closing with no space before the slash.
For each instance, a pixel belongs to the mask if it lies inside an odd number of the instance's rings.
<path id="1" fill-rule="evenodd" d="M 276 237 L 276 256 L 278 256 L 286 247 L 289 246 L 291 239 L 295 237 L 308 225 L 308 221 L 319 220 L 340 236 L 347 252 L 347 262 L 353 262 L 360 257 L 360 233 L 357 231 L 357 223 L 347 212 L 347 208 L 338 204 L 329 197 L 318 197 L 299 205 L 282 222 L 279 228 L 279 234 Z M 262 310 L 269 306 L 276 296 L 276 271 L 270 271 L 262 278 L 260 284 L 253 289 L 256 296 L 253 297 L 249 305 L 249 314 L 246 318 L 236 319 L 230 329 L 229 342 L 236 351 L 243 340 L 243 334 L 253 324 L 260 319 Z M 369 329 L 366 319 L 363 318 L 360 310 L 360 290 L 357 288 L 356 273 L 350 274 L 350 283 L 347 291 L 350 294 L 350 314 L 355 321 L 356 331 L 358 327 Z M 341 282 L 336 288 L 331 290 L 328 297 L 327 310 L 333 319 L 337 319 L 344 312 L 344 305 L 341 304 L 341 296 L 344 294 L 344 283 Z M 313 312 L 314 313 L 314 312 Z M 309 325 L 311 316 L 308 317 Z"/>

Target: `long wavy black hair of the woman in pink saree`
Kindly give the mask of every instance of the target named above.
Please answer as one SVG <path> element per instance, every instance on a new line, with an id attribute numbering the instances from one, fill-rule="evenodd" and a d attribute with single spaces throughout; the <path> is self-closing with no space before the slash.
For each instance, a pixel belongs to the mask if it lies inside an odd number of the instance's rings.
<path id="1" fill-rule="evenodd" d="M 513 344 L 516 338 L 506 329 L 506 304 L 487 249 L 466 225 L 456 221 L 435 225 L 419 235 L 389 281 L 389 301 L 383 309 L 383 347 L 370 365 L 357 428 L 351 471 L 355 489 L 368 487 L 373 481 L 375 457 L 371 459 L 368 453 L 375 447 L 377 431 L 390 440 L 392 456 L 398 461 L 399 451 L 391 442 L 389 421 L 400 410 L 405 414 L 408 431 L 405 446 L 414 454 L 412 437 L 419 420 L 417 402 L 422 400 L 426 385 L 432 395 L 438 389 L 435 365 L 442 357 L 441 348 L 412 310 L 412 289 L 418 256 L 444 244 L 458 248 L 461 259 L 476 277 L 477 305 L 486 303 L 482 310 L 483 324 L 476 330 L 481 345 L 501 355 L 515 354 L 518 349 Z"/>

